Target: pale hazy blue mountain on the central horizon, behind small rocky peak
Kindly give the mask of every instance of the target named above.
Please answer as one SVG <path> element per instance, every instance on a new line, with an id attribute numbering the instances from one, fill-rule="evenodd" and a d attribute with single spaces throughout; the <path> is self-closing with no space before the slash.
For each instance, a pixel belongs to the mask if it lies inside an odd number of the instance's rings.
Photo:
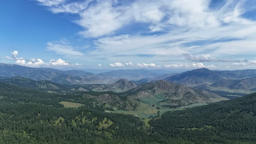
<path id="1" fill-rule="evenodd" d="M 115 77 L 115 78 L 125 78 L 128 80 L 138 80 L 142 78 L 150 78 L 158 76 L 158 73 L 147 71 L 144 69 L 119 69 L 116 71 L 109 71 L 104 73 L 99 73 L 100 76 L 104 77 Z"/>

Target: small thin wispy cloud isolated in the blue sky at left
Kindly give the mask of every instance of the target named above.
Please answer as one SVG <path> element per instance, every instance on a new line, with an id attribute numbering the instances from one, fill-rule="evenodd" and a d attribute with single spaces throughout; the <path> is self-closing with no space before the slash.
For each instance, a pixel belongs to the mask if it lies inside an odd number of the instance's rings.
<path id="1" fill-rule="evenodd" d="M 57 54 L 64 56 L 83 56 L 84 54 L 74 50 L 72 46 L 66 45 L 63 42 L 48 42 L 46 50 L 54 51 Z"/>

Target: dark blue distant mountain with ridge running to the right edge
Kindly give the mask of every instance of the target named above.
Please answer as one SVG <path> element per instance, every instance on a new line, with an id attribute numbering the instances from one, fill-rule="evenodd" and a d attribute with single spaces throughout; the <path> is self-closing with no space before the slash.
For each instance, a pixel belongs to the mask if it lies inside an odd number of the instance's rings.
<path id="1" fill-rule="evenodd" d="M 256 77 L 255 69 L 211 71 L 206 68 L 201 68 L 170 76 L 165 80 L 168 82 L 183 84 L 188 87 L 195 87 L 202 84 L 211 85 L 221 80 L 240 80 L 251 77 Z"/>

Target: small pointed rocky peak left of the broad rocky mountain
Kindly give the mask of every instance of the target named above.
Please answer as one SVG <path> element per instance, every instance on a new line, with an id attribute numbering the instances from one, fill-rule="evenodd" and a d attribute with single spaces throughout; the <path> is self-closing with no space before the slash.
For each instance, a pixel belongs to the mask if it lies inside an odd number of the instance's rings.
<path id="1" fill-rule="evenodd" d="M 116 83 L 108 84 L 107 87 L 111 87 L 115 91 L 117 90 L 128 91 L 128 90 L 131 90 L 132 88 L 137 87 L 137 85 L 131 81 L 120 79 Z"/>

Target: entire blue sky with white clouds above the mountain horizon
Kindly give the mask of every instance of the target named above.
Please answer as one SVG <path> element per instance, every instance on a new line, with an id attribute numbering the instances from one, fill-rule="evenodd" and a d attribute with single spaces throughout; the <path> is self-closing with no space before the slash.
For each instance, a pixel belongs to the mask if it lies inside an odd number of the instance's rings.
<path id="1" fill-rule="evenodd" d="M 1 63 L 256 68 L 256 0 L 6 0 L 0 18 Z"/>

